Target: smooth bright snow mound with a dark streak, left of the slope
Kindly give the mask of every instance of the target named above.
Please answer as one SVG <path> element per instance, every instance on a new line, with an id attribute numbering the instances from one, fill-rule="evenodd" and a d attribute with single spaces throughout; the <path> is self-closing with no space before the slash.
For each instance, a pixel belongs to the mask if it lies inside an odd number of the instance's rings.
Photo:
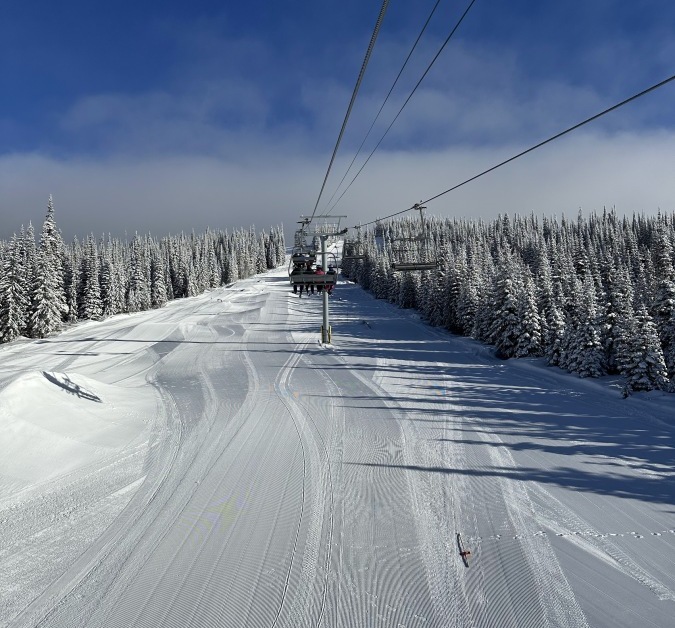
<path id="1" fill-rule="evenodd" d="M 0 391 L 0 496 L 101 462 L 134 442 L 153 393 L 36 371 Z"/>

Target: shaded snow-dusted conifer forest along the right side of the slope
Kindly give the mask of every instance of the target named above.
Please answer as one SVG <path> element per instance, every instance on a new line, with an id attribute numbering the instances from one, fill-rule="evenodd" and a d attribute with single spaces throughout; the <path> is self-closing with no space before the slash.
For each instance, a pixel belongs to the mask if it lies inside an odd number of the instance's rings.
<path id="1" fill-rule="evenodd" d="M 343 274 L 431 325 L 543 356 L 580 377 L 624 376 L 625 395 L 675 381 L 675 214 L 576 220 L 399 219 L 363 230 Z M 393 262 L 437 261 L 397 272 Z"/>

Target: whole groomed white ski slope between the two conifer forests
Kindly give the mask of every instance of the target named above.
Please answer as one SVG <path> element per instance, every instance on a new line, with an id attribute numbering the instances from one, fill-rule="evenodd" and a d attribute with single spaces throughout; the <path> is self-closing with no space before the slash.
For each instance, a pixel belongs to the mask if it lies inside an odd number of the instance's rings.
<path id="1" fill-rule="evenodd" d="M 331 306 L 280 270 L 0 348 L 0 625 L 675 625 L 672 397 Z"/>

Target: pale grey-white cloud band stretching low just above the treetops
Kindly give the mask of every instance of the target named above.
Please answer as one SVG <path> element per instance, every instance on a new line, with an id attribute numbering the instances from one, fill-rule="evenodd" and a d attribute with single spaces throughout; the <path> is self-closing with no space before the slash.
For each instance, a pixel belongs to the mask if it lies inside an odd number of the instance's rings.
<path id="1" fill-rule="evenodd" d="M 510 157 L 522 146 L 382 153 L 357 179 L 335 213 L 349 223 L 405 209 Z M 616 206 L 620 212 L 675 211 L 675 133 L 578 135 L 551 144 L 429 205 L 443 216 L 498 213 L 576 215 Z M 0 237 L 21 223 L 37 226 L 54 194 L 67 238 L 89 232 L 157 235 L 283 222 L 290 230 L 311 213 L 323 162 L 272 151 L 234 165 L 213 157 L 57 161 L 39 155 L 0 158 Z M 336 164 L 341 173 L 344 161 Z M 331 178 L 332 185 L 339 177 Z M 332 193 L 327 187 L 324 201 Z M 323 209 L 323 204 L 321 206 Z M 290 234 L 290 232 L 289 232 Z"/>

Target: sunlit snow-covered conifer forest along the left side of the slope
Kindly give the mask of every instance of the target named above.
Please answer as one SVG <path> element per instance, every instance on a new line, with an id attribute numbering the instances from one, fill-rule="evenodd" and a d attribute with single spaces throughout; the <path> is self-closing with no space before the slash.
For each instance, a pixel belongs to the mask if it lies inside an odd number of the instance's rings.
<path id="1" fill-rule="evenodd" d="M 285 262 L 281 227 L 207 230 L 129 242 L 87 236 L 64 243 L 51 196 L 36 243 L 33 227 L 0 241 L 0 342 L 44 338 L 67 323 L 162 307 Z"/>

